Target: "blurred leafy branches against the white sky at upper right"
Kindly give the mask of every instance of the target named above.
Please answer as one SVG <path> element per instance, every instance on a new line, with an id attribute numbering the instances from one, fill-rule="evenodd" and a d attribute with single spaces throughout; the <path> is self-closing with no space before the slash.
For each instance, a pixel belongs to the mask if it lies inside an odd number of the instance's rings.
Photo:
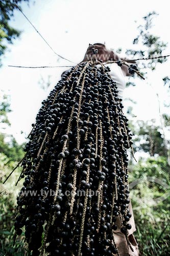
<path id="1" fill-rule="evenodd" d="M 158 14 L 156 12 L 150 12 L 148 15 L 142 18 L 142 24 L 137 27 L 138 35 L 133 39 L 134 49 L 127 49 L 126 54 L 130 58 L 150 58 L 161 56 L 162 52 L 167 47 L 167 42 L 163 42 L 159 36 L 155 36 L 151 33 L 153 27 L 153 19 L 156 18 Z M 167 58 L 150 59 L 148 61 L 140 60 L 137 62 L 140 73 L 142 76 L 147 77 L 147 69 L 152 71 L 156 69 L 157 63 L 163 63 Z M 135 86 L 133 81 L 133 76 L 129 77 L 127 82 L 127 87 Z"/>

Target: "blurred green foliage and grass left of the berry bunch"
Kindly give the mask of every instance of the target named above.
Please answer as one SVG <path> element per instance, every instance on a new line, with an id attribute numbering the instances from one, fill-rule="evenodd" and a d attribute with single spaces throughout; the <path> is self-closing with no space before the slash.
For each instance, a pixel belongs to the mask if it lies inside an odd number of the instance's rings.
<path id="1" fill-rule="evenodd" d="M 23 146 L 19 145 L 12 135 L 6 134 L 7 127 L 11 124 L 8 114 L 11 112 L 10 97 L 2 92 L 0 103 L 0 180 L 3 182 L 12 172 L 17 162 L 23 158 Z M 6 126 L 2 126 L 6 124 Z M 19 178 L 20 169 L 8 179 L 5 184 L 0 184 L 0 255 L 21 256 L 23 254 L 23 237 L 17 238 L 16 248 L 13 248 L 14 215 L 16 197 L 20 186 L 15 186 Z"/>

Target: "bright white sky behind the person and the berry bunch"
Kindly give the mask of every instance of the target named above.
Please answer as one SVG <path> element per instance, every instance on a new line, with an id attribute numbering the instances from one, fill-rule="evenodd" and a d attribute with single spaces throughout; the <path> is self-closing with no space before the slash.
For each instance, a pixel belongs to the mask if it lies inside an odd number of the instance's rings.
<path id="1" fill-rule="evenodd" d="M 126 50 L 132 47 L 132 40 L 137 35 L 137 24 L 141 18 L 155 10 L 159 16 L 155 19 L 153 33 L 164 41 L 169 41 L 169 8 L 168 2 L 146 1 L 136 2 L 114 0 L 30 0 L 30 5 L 22 4 L 22 11 L 28 16 L 38 31 L 44 36 L 52 48 L 60 55 L 80 62 L 85 54 L 89 42 L 106 42 L 108 48 L 121 47 Z M 137 20 L 137 24 L 134 23 Z M 54 69 L 19 69 L 8 65 L 18 66 L 57 66 L 71 65 L 60 59 L 47 47 L 27 19 L 15 11 L 11 25 L 22 31 L 19 39 L 9 46 L 0 69 L 1 89 L 11 94 L 11 108 L 9 115 L 12 133 L 17 141 L 25 141 L 25 135 L 31 130 L 31 123 L 35 121 L 41 101 L 47 97 L 61 73 L 66 68 Z M 170 47 L 165 54 L 170 53 Z M 134 113 L 137 119 L 159 121 L 158 100 L 165 97 L 162 77 L 169 75 L 169 60 L 158 66 L 156 72 L 149 74 L 148 81 L 135 79 L 136 87 L 125 90 L 124 96 L 137 101 Z M 38 82 L 41 77 L 51 86 L 43 91 Z M 151 84 L 151 86 L 150 86 Z M 125 104 L 127 104 L 125 102 Z M 23 131 L 24 134 L 20 134 Z"/>

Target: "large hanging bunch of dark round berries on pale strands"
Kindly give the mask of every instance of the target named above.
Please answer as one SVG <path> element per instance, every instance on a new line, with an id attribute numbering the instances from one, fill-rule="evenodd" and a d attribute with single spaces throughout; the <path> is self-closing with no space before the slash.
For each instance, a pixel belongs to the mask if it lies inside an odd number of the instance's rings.
<path id="1" fill-rule="evenodd" d="M 117 94 L 109 68 L 88 61 L 42 102 L 21 164 L 15 221 L 16 235 L 25 226 L 31 255 L 119 255 L 117 216 L 131 247 L 132 136 Z"/>

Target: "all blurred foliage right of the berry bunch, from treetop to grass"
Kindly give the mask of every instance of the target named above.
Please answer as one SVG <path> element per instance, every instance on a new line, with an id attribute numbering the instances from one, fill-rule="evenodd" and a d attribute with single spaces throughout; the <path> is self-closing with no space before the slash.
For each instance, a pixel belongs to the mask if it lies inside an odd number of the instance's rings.
<path id="1" fill-rule="evenodd" d="M 135 49 L 128 49 L 126 52 L 130 58 L 163 55 L 167 44 L 159 36 L 151 33 L 153 19 L 157 15 L 155 12 L 151 12 L 143 17 L 143 23 L 138 26 L 138 35 L 133 40 Z M 147 69 L 154 71 L 157 63 L 165 61 L 166 58 L 140 61 L 138 67 L 142 75 L 147 77 Z M 162 80 L 168 93 L 170 79 L 166 76 Z M 132 76 L 127 83 L 127 87 L 129 86 L 135 86 Z M 129 101 L 129 103 L 131 104 L 127 109 L 127 115 L 130 119 L 130 129 L 134 135 L 133 148 L 134 152 L 141 155 L 137 164 L 134 164 L 131 157 L 129 165 L 129 183 L 130 186 L 134 184 L 131 188 L 131 201 L 137 229 L 135 238 L 139 245 L 140 256 L 166 256 L 169 255 L 170 241 L 170 191 L 168 150 L 163 129 L 164 126 L 170 127 L 170 117 L 163 114 L 161 127 L 155 124 L 155 120 L 136 121 L 133 119 L 135 117 L 133 114 L 135 102 Z M 169 108 L 169 106 L 170 104 L 167 102 L 166 107 Z M 145 153 L 144 157 L 142 157 L 142 153 Z"/>

